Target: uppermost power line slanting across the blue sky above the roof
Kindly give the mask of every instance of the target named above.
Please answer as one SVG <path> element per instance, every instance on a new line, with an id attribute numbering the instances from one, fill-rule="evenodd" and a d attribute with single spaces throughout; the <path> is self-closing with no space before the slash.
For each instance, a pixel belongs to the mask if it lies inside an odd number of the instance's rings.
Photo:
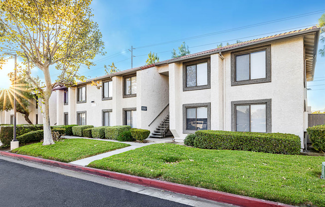
<path id="1" fill-rule="evenodd" d="M 246 29 L 246 28 L 261 26 L 261 25 L 265 25 L 265 24 L 271 24 L 271 23 L 276 23 L 276 22 L 280 22 L 280 21 L 286 21 L 286 20 L 290 20 L 290 19 L 310 16 L 310 15 L 319 14 L 319 13 L 323 13 L 323 12 L 324 12 L 324 9 L 317 10 L 317 11 L 312 11 L 312 12 L 309 12 L 309 13 L 298 14 L 298 15 L 294 15 L 294 16 L 288 16 L 288 17 L 284 17 L 284 18 L 280 18 L 280 19 L 274 19 L 274 20 L 270 20 L 270 21 L 260 22 L 260 23 L 256 23 L 256 24 L 250 24 L 250 25 L 246 25 L 246 26 L 236 27 L 236 28 L 232 28 L 232 29 L 221 30 L 221 31 L 217 31 L 217 32 L 212 32 L 212 33 L 207 33 L 207 34 L 202 34 L 202 35 L 197 35 L 197 36 L 192 36 L 192 37 L 187 37 L 187 38 L 182 38 L 182 39 L 177 39 L 177 40 L 171 40 L 171 41 L 166 41 L 166 42 L 161 42 L 161 43 L 156 43 L 156 44 L 151 44 L 151 45 L 145 45 L 145 46 L 138 46 L 137 48 L 141 49 L 141 48 L 152 47 L 152 46 L 157 46 L 157 45 L 163 45 L 163 44 L 179 42 L 179 41 L 184 41 L 184 40 L 189 40 L 189 39 L 195 39 L 195 38 L 199 38 L 199 37 L 205 37 L 205 36 L 210 36 L 210 35 L 215 35 L 215 34 L 221 34 L 221 33 L 226 33 L 226 32 L 230 32 L 230 31 Z"/>

